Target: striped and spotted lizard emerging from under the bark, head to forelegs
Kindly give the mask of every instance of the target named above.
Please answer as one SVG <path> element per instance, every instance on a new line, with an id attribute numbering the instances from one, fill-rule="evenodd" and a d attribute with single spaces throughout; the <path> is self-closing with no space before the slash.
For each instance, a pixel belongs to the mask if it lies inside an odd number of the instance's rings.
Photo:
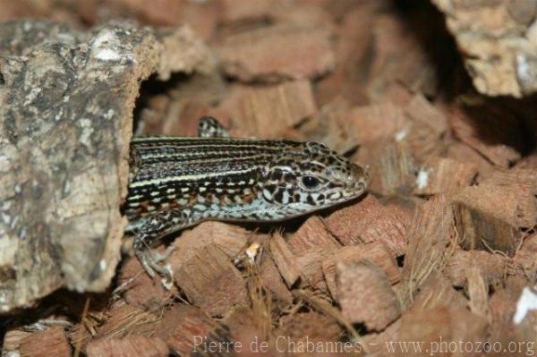
<path id="1" fill-rule="evenodd" d="M 233 139 L 216 119 L 200 138 L 131 142 L 124 213 L 144 268 L 167 275 L 148 254 L 159 238 L 204 220 L 275 222 L 362 195 L 369 175 L 318 142 Z"/>

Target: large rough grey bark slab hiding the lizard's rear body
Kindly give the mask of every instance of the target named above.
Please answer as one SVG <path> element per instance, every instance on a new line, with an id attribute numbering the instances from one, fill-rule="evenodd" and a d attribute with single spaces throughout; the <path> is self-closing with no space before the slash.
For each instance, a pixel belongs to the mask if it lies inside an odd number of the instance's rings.
<path id="1" fill-rule="evenodd" d="M 103 291 L 120 259 L 140 81 L 209 72 L 191 30 L 112 21 L 0 25 L 0 311 L 60 287 Z"/>

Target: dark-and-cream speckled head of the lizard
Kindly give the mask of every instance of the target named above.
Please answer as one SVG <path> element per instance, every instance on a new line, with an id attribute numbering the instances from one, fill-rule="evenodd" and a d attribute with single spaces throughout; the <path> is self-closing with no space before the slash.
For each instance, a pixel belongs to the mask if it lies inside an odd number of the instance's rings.
<path id="1" fill-rule="evenodd" d="M 370 183 L 362 166 L 319 142 L 287 141 L 262 176 L 263 199 L 281 206 L 288 216 L 353 200 Z"/>

